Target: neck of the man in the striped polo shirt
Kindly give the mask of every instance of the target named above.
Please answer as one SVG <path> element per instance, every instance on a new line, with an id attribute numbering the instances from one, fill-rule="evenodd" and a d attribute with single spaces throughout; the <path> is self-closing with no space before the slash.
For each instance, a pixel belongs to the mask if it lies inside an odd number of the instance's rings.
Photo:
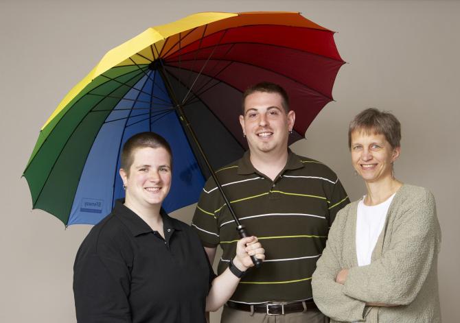
<path id="1" fill-rule="evenodd" d="M 275 180 L 276 176 L 288 162 L 287 148 L 279 153 L 250 153 L 249 160 L 251 160 L 254 168 L 268 176 L 271 180 Z"/>

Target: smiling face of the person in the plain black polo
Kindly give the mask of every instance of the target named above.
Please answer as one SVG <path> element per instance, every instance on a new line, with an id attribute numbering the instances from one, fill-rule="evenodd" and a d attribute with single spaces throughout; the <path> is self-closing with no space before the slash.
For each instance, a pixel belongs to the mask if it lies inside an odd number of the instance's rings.
<path id="1" fill-rule="evenodd" d="M 171 186 L 171 156 L 163 147 L 137 148 L 133 152 L 133 163 L 126 172 L 120 169 L 126 185 L 125 204 L 136 209 L 161 206 Z"/>

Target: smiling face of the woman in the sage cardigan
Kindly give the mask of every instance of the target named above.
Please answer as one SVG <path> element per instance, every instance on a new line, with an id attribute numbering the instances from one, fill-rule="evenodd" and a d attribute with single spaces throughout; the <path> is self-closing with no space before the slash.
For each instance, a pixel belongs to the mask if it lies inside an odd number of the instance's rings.
<path id="1" fill-rule="evenodd" d="M 400 156 L 400 147 L 391 147 L 383 134 L 358 129 L 351 136 L 352 163 L 365 182 L 392 178 L 392 163 Z"/>

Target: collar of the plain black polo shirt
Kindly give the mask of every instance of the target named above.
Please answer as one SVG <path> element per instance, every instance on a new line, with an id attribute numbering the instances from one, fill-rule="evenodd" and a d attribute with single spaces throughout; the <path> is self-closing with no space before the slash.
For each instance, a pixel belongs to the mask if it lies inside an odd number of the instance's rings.
<path id="1" fill-rule="evenodd" d="M 133 236 L 142 235 L 143 233 L 153 232 L 152 228 L 146 224 L 139 215 L 133 212 L 130 208 L 124 205 L 124 199 L 116 200 L 113 213 L 117 216 L 123 224 L 130 230 Z M 166 213 L 163 208 L 160 209 L 160 215 L 163 218 L 163 228 L 174 228 L 174 230 L 181 230 L 181 227 L 176 224 L 174 219 Z"/>

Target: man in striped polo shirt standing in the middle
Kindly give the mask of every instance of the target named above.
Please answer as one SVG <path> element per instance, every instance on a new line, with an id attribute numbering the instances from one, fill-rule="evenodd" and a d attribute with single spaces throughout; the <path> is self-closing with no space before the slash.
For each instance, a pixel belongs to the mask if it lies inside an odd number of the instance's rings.
<path id="1" fill-rule="evenodd" d="M 241 223 L 262 242 L 266 260 L 244 274 L 221 322 L 271 322 L 266 315 L 281 315 L 283 321 L 276 322 L 328 322 L 314 305 L 310 281 L 332 221 L 349 199 L 329 167 L 288 149 L 295 112 L 281 86 L 263 82 L 248 88 L 243 109 L 249 152 L 216 174 Z M 221 246 L 220 274 L 231 265 L 240 238 L 212 178 L 192 226 L 211 263 Z"/>

